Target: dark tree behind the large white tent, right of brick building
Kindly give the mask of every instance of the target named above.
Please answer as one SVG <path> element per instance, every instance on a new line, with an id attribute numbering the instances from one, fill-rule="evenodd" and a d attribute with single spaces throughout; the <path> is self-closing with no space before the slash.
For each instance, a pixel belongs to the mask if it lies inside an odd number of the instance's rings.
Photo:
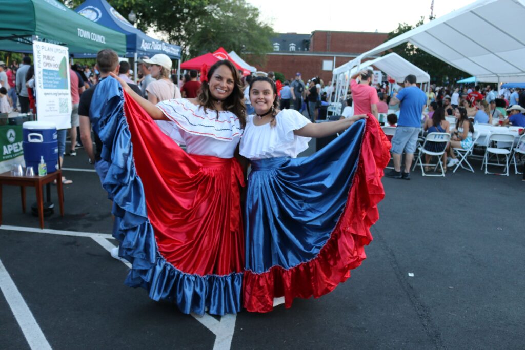
<path id="1" fill-rule="evenodd" d="M 432 19 L 434 18 L 430 18 L 430 20 Z M 415 27 L 421 26 L 423 22 L 424 17 L 421 17 L 415 26 L 411 26 L 406 23 L 400 23 L 396 29 L 388 33 L 387 40 L 395 38 L 396 36 L 401 35 Z M 398 45 L 385 52 L 384 55 L 390 52 L 396 52 L 397 55 L 400 55 L 407 61 L 426 71 L 430 75 L 432 82 L 438 85 L 454 83 L 461 78 L 469 76 L 468 73 L 448 65 L 439 58 L 428 54 L 427 52 L 410 43 Z"/>

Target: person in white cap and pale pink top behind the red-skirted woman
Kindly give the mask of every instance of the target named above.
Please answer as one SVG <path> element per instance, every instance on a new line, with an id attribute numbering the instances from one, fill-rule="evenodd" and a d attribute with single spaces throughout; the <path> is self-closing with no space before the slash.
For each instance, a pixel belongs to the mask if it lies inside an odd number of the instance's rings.
<path id="1" fill-rule="evenodd" d="M 148 101 L 156 104 L 160 101 L 182 98 L 181 91 L 170 80 L 172 61 L 167 55 L 156 54 L 150 59 L 144 59 L 144 63 L 150 65 L 151 76 L 156 79 L 146 87 Z"/>

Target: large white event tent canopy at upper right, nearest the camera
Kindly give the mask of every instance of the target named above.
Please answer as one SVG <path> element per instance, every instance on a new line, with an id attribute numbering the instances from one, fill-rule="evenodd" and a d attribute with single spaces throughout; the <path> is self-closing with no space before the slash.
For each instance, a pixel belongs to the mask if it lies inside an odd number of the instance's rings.
<path id="1" fill-rule="evenodd" d="M 525 80 L 525 0 L 478 0 L 401 34 L 333 70 L 341 76 L 365 57 L 406 43 L 461 69 L 480 82 Z M 339 95 L 338 95 L 339 96 Z"/>

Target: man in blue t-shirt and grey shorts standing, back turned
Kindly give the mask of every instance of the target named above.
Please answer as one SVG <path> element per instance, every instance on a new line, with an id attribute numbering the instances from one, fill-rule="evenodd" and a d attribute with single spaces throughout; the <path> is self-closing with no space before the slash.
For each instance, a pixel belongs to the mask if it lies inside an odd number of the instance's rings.
<path id="1" fill-rule="evenodd" d="M 390 99 L 390 105 L 400 103 L 399 120 L 392 137 L 394 169 L 385 176 L 410 179 L 410 166 L 414 160 L 417 135 L 421 130 L 421 115 L 427 102 L 426 94 L 417 87 L 416 76 L 405 78 L 404 88 Z M 405 152 L 405 171 L 401 172 L 401 156 Z"/>

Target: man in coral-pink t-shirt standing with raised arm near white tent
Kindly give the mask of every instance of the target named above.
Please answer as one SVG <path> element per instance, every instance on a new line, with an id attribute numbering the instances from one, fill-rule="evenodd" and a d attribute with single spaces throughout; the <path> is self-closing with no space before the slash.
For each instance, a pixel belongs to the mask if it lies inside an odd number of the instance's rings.
<path id="1" fill-rule="evenodd" d="M 352 100 L 354 115 L 371 113 L 377 118 L 377 91 L 370 86 L 373 72 L 370 69 L 363 69 L 352 76 L 350 89 L 352 90 Z M 356 78 L 360 77 L 358 82 Z"/>

